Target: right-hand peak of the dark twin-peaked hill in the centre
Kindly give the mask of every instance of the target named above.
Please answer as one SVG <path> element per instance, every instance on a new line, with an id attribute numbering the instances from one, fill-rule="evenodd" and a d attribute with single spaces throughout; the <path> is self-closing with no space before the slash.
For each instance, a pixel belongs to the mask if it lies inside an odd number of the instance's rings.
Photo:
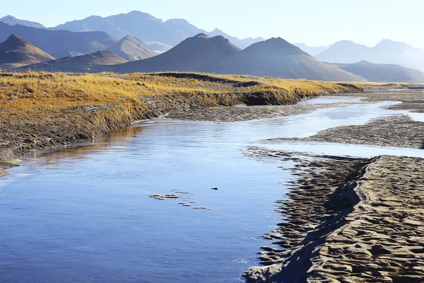
<path id="1" fill-rule="evenodd" d="M 218 60 L 204 71 L 284 79 L 364 81 L 360 76 L 319 62 L 280 37 L 255 43 L 245 50 Z"/>

